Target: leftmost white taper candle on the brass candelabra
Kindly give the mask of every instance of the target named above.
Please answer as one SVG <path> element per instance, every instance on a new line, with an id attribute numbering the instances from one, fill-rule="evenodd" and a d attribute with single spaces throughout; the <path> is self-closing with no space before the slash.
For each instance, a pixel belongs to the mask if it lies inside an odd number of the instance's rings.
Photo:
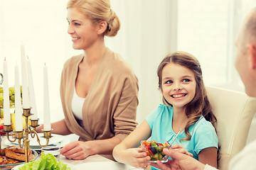
<path id="1" fill-rule="evenodd" d="M 4 58 L 4 125 L 11 125 L 7 62 Z"/>

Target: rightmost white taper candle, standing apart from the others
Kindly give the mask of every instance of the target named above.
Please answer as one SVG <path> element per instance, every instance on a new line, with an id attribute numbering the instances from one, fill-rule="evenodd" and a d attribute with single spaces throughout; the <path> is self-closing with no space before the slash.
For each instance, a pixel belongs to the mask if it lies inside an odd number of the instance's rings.
<path id="1" fill-rule="evenodd" d="M 48 73 L 46 64 L 43 67 L 43 130 L 51 130 Z"/>

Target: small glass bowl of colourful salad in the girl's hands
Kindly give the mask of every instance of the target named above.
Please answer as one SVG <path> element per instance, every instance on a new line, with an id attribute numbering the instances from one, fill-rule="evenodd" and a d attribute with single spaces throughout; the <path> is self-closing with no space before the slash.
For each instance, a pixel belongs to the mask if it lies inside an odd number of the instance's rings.
<path id="1" fill-rule="evenodd" d="M 146 154 L 148 154 L 148 156 L 151 157 L 149 162 L 156 163 L 157 160 L 161 162 L 168 161 L 167 159 L 168 157 L 163 152 L 164 148 L 169 147 L 168 142 L 161 143 L 161 142 L 156 142 L 155 140 L 152 140 L 152 141 L 143 140 L 141 142 L 141 147 L 142 149 L 144 149 Z"/>

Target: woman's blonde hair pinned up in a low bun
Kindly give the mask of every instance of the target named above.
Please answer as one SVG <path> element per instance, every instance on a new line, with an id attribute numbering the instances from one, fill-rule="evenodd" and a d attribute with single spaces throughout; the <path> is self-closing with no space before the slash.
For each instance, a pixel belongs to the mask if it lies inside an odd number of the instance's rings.
<path id="1" fill-rule="evenodd" d="M 104 35 L 114 37 L 120 29 L 120 21 L 117 14 L 110 8 L 110 0 L 70 0 L 67 8 L 78 8 L 88 16 L 92 23 L 107 22 Z"/>

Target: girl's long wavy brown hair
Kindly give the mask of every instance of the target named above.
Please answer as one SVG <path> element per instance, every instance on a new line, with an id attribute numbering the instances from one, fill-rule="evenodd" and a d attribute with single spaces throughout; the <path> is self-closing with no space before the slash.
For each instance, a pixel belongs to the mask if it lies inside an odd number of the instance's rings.
<path id="1" fill-rule="evenodd" d="M 188 128 L 196 123 L 196 121 L 199 120 L 201 115 L 203 115 L 206 120 L 208 120 L 210 123 L 213 124 L 217 122 L 217 119 L 215 115 L 211 111 L 210 102 L 208 101 L 208 97 L 206 95 L 206 89 L 203 84 L 203 75 L 201 66 L 196 59 L 196 57 L 193 57 L 193 55 L 187 53 L 187 52 L 174 52 L 172 54 L 167 55 L 164 60 L 159 64 L 159 67 L 157 69 L 157 76 L 159 77 L 159 89 L 162 91 L 162 71 L 166 64 L 179 64 L 183 67 L 186 67 L 190 69 L 196 79 L 196 94 L 191 102 L 186 104 L 186 115 L 188 117 L 188 123 L 186 123 L 185 126 L 185 134 L 186 138 L 182 140 L 191 140 L 191 135 L 188 132 Z M 166 101 L 166 99 L 163 96 L 163 102 L 166 106 L 172 106 L 171 103 Z"/>

